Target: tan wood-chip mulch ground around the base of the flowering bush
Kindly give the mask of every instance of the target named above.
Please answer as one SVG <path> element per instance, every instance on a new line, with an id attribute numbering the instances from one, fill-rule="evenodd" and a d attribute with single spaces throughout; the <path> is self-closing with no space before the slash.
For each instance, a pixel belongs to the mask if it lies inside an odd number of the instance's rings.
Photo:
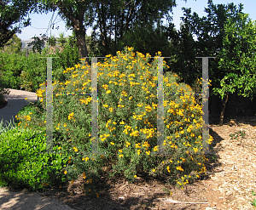
<path id="1" fill-rule="evenodd" d="M 222 127 L 210 122 L 214 139 L 211 147 L 217 161 L 208 157 L 207 177 L 186 185 L 183 190 L 143 174 L 135 184 L 123 178 L 106 180 L 102 174 L 102 184 L 97 188 L 99 198 L 85 195 L 82 177 L 42 195 L 55 196 L 75 209 L 255 209 L 250 202 L 255 198 L 251 191 L 256 190 L 255 116 L 233 121 L 234 125 L 226 119 Z M 230 138 L 230 133 L 240 130 L 246 131 L 244 139 Z"/>

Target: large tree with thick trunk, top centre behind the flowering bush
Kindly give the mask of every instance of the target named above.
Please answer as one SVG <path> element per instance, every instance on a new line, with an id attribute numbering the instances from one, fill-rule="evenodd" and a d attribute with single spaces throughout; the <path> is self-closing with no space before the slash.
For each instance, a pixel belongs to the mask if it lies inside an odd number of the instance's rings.
<path id="1" fill-rule="evenodd" d="M 155 22 L 163 17 L 171 20 L 170 12 L 176 6 L 176 0 L 38 0 L 38 3 L 41 3 L 38 7 L 41 13 L 59 9 L 58 14 L 66 21 L 67 28 L 72 27 L 76 34 L 81 58 L 88 56 L 85 41 L 88 27 L 94 28 L 90 48 L 102 56 L 116 51 L 125 32 L 138 22 L 148 25 L 149 20 Z"/>

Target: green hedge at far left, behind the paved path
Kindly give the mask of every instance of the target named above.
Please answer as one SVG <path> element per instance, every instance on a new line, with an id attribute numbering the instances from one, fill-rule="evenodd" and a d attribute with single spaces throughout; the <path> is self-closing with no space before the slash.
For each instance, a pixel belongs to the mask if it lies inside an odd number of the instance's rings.
<path id="1" fill-rule="evenodd" d="M 63 71 L 69 66 L 79 63 L 79 49 L 73 36 L 68 37 L 62 51 L 57 49 L 55 54 L 49 54 L 49 48 L 39 53 L 29 54 L 3 54 L 1 60 L 1 82 L 4 88 L 20 89 L 36 92 L 39 84 L 45 82 L 47 73 L 47 59 L 40 57 L 60 57 L 52 62 L 53 78 L 64 81 Z"/>

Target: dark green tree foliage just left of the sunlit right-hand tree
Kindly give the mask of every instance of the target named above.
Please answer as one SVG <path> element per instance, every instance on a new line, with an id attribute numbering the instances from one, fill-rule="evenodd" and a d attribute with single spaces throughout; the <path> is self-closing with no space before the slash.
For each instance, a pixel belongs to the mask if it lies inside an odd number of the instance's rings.
<path id="1" fill-rule="evenodd" d="M 192 14 L 191 9 L 183 8 L 183 27 L 177 34 L 172 35 L 173 44 L 177 48 L 178 61 L 175 67 L 170 65 L 173 71 L 176 68 L 180 70 L 182 72 L 180 77 L 183 77 L 186 82 L 189 82 L 189 77 L 194 81 L 196 75 L 201 77 L 201 60 L 195 57 L 218 57 L 219 52 L 224 48 L 225 24 L 229 18 L 236 20 L 242 9 L 242 4 L 236 7 L 234 3 L 213 4 L 212 0 L 208 0 L 208 7 L 205 9 L 207 16 L 199 17 L 195 12 Z M 192 35 L 197 40 L 194 41 Z M 220 88 L 220 81 L 227 75 L 227 72 L 218 65 L 219 58 L 222 57 L 209 60 L 209 78 L 212 80 L 212 88 Z"/>

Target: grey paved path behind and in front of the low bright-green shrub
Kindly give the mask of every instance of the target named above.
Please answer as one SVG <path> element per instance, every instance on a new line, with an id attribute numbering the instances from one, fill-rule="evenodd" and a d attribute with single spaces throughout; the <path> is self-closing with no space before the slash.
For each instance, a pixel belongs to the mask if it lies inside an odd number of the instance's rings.
<path id="1" fill-rule="evenodd" d="M 29 101 L 38 100 L 36 93 L 23 90 L 9 89 L 10 94 L 5 97 L 8 105 L 0 110 L 0 122 L 6 128 L 8 122 L 15 120 L 15 115 L 22 107 L 29 104 Z M 26 100 L 27 98 L 27 100 Z M 6 122 L 7 121 L 7 122 Z M 9 190 L 7 187 L 0 187 L 0 209 L 9 210 L 73 210 L 61 203 L 61 201 L 48 196 L 40 196 L 37 192 L 26 193 L 17 190 Z"/>

